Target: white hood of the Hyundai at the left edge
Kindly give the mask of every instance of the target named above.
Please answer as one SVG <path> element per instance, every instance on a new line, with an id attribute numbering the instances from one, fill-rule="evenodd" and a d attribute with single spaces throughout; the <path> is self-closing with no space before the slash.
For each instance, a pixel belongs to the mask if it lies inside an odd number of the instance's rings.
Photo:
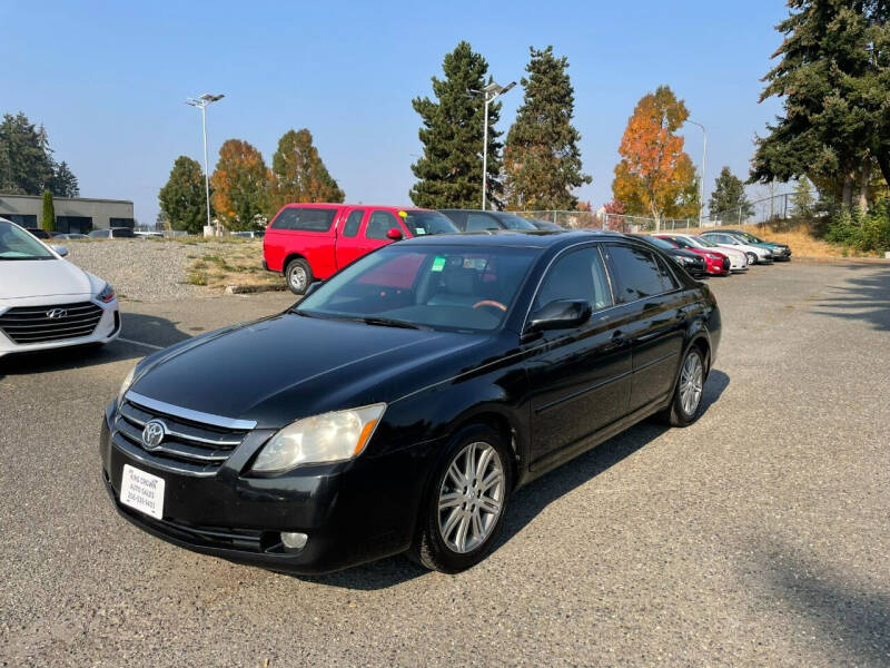
<path id="1" fill-rule="evenodd" d="M 98 278 L 65 259 L 0 261 L 0 299 L 86 295 L 99 289 Z"/>

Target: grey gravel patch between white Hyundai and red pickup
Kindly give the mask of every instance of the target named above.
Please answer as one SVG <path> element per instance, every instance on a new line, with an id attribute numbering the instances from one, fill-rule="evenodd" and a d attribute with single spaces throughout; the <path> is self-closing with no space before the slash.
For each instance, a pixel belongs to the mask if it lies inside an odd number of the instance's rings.
<path id="1" fill-rule="evenodd" d="M 201 256 L 225 256 L 233 244 L 219 242 L 176 242 L 115 239 L 66 242 L 67 259 L 108 281 L 122 299 L 167 302 L 214 296 L 215 292 L 188 284 L 188 267 Z M 261 248 L 257 244 L 257 265 Z"/>

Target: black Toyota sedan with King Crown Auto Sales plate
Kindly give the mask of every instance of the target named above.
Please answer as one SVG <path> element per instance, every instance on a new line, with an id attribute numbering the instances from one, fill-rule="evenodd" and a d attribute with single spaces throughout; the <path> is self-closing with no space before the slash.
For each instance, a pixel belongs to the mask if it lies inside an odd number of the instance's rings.
<path id="1" fill-rule="evenodd" d="M 705 285 L 622 235 L 413 238 L 139 362 L 101 472 L 125 518 L 199 552 L 456 572 L 516 488 L 649 415 L 693 422 L 720 331 Z"/>

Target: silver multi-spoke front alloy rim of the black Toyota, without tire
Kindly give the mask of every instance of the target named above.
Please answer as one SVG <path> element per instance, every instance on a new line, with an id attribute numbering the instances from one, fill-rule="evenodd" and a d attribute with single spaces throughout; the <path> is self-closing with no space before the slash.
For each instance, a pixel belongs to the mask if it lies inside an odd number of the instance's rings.
<path id="1" fill-rule="evenodd" d="M 452 460 L 438 493 L 438 530 L 451 550 L 466 553 L 491 536 L 504 508 L 504 466 L 493 445 L 474 442 Z"/>

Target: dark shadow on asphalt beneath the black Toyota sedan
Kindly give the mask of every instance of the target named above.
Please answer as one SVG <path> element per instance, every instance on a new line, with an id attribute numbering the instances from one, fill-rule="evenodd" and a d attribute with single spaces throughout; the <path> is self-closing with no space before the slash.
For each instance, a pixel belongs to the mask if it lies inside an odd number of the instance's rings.
<path id="1" fill-rule="evenodd" d="M 704 386 L 702 414 L 720 399 L 729 384 L 730 377 L 725 373 L 718 369 L 711 371 Z M 518 490 L 511 499 L 504 528 L 494 549 L 497 550 L 522 531 L 547 505 L 644 448 L 669 429 L 654 419 L 645 420 L 572 460 L 571 465 L 564 464 Z M 373 590 L 394 587 L 428 572 L 406 557 L 397 556 L 326 576 L 294 577 L 345 589 Z"/>

